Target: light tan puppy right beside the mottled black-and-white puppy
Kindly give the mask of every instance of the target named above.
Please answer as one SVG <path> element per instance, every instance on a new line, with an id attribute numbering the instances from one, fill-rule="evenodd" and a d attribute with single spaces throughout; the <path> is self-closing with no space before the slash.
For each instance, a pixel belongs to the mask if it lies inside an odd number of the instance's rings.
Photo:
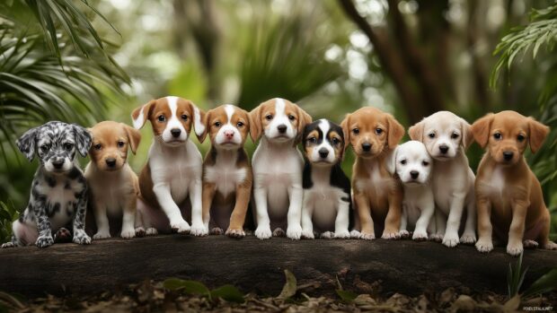
<path id="1" fill-rule="evenodd" d="M 109 216 L 121 219 L 120 237 L 133 238 L 136 236 L 139 182 L 126 159 L 128 148 L 136 153 L 141 134 L 137 129 L 111 121 L 93 126 L 90 132 L 93 145 L 85 178 L 89 183 L 90 204 L 97 226 L 93 239 L 111 237 Z"/>

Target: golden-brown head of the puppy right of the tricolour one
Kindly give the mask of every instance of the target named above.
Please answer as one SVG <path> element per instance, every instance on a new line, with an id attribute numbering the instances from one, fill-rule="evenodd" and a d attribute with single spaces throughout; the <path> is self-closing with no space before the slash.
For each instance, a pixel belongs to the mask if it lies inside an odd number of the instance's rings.
<path id="1" fill-rule="evenodd" d="M 393 150 L 404 135 L 404 128 L 392 115 L 372 107 L 348 114 L 340 125 L 345 148 L 351 144 L 358 157 L 364 159 Z"/>

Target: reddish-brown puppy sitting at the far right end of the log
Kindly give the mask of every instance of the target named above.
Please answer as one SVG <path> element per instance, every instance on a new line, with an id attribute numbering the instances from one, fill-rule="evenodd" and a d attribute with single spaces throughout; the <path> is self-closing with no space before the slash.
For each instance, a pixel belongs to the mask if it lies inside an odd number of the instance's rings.
<path id="1" fill-rule="evenodd" d="M 549 127 L 515 111 L 502 111 L 478 119 L 472 131 L 474 139 L 487 147 L 475 182 L 476 248 L 491 251 L 495 230 L 498 239 L 508 239 L 507 253 L 512 256 L 520 255 L 524 246 L 557 249 L 548 239 L 550 214 L 542 187 L 523 156 L 528 144 L 534 153 L 540 149 Z"/>

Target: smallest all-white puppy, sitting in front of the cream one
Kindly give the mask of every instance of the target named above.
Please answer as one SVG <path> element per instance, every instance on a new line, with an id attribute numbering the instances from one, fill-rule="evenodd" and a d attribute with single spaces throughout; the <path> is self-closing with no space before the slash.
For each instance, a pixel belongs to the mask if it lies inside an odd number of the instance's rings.
<path id="1" fill-rule="evenodd" d="M 401 237 L 410 236 L 407 226 L 414 227 L 412 239 L 427 240 L 435 212 L 433 190 L 429 182 L 431 157 L 423 143 L 410 141 L 399 145 L 393 155 L 393 169 L 402 181 Z"/>

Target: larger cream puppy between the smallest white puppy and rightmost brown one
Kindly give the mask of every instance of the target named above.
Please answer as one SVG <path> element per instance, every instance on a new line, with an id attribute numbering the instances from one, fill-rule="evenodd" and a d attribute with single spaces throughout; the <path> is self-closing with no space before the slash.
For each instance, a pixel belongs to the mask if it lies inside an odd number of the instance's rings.
<path id="1" fill-rule="evenodd" d="M 476 241 L 475 177 L 465 154 L 473 141 L 470 125 L 451 112 L 439 111 L 411 126 L 409 133 L 412 140 L 426 145 L 434 159 L 431 184 L 438 210 L 435 213 L 436 234 L 432 239 L 442 238 L 446 247 L 455 247 L 465 207 L 467 216 L 460 242 L 473 244 Z"/>

